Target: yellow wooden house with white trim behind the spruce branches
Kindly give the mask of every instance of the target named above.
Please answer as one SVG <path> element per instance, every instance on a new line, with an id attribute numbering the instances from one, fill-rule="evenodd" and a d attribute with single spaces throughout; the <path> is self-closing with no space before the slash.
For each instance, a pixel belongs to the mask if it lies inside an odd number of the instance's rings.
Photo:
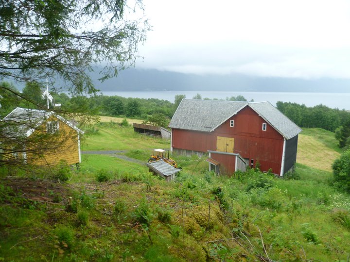
<path id="1" fill-rule="evenodd" d="M 70 165 L 81 163 L 80 136 L 84 132 L 72 121 L 52 111 L 18 107 L 1 122 L 7 138 L 2 143 L 7 143 L 10 161 L 50 166 L 61 160 Z"/>

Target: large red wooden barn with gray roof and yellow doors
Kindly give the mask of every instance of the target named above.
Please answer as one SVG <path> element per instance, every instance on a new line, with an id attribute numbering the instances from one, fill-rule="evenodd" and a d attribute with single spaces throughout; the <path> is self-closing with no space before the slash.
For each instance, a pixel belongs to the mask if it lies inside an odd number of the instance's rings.
<path id="1" fill-rule="evenodd" d="M 283 176 L 296 162 L 301 132 L 269 102 L 197 99 L 183 99 L 169 127 L 173 152 L 209 152 L 210 168 L 226 174 L 259 163 Z"/>

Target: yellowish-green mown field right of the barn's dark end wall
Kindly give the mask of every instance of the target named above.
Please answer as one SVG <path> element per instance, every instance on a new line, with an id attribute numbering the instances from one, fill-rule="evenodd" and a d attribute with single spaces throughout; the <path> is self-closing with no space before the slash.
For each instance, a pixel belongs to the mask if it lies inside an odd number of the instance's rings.
<path id="1" fill-rule="evenodd" d="M 336 147 L 333 132 L 317 128 L 304 129 L 298 138 L 297 163 L 332 171 L 332 164 L 341 152 Z"/>

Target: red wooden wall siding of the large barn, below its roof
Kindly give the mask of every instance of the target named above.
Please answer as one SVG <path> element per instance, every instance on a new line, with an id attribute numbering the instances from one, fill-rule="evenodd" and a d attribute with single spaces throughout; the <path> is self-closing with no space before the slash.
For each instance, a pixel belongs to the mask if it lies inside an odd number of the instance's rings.
<path id="1" fill-rule="evenodd" d="M 234 120 L 234 127 L 230 127 L 230 120 Z M 282 135 L 268 123 L 266 123 L 266 131 L 262 131 L 263 123 L 266 121 L 247 106 L 212 132 L 173 129 L 172 146 L 175 152 L 180 152 L 180 149 L 200 152 L 216 151 L 217 137 L 230 137 L 234 139 L 234 153 L 240 154 L 249 165 L 253 159 L 254 164 L 250 166 L 255 167 L 259 162 L 262 171 L 268 171 L 271 168 L 273 173 L 280 174 L 284 140 Z M 286 151 L 289 154 L 285 156 L 285 161 L 288 161 L 287 166 L 296 157 L 296 150 L 293 149 L 296 147 L 295 142 L 291 142 L 288 146 L 289 149 Z M 227 170 L 232 170 L 231 162 L 224 158 L 223 161 L 227 164 Z"/>

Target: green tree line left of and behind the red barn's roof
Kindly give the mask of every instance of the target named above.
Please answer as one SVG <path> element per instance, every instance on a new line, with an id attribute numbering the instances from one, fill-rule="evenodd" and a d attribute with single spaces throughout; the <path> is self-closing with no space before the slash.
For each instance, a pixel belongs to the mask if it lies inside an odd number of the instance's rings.
<path id="1" fill-rule="evenodd" d="M 46 108 L 46 100 L 42 97 L 45 86 L 38 82 L 27 82 L 22 92 L 9 82 L 1 82 L 13 92 L 7 91 L 0 98 L 0 116 L 4 117 L 17 106 L 24 108 Z M 20 94 L 20 96 L 18 96 Z M 63 112 L 87 113 L 90 115 L 108 115 L 121 117 L 135 117 L 145 120 L 153 125 L 167 126 L 173 117 L 176 108 L 185 95 L 176 95 L 175 102 L 157 98 L 124 98 L 120 96 L 94 95 L 70 97 L 66 93 L 50 91 L 53 96 L 53 103 L 50 103 L 50 109 Z M 21 98 L 21 96 L 26 99 Z M 202 99 L 197 94 L 193 99 Z M 204 98 L 210 99 L 210 98 Z M 218 100 L 214 98 L 214 100 Z M 230 97 L 224 100 L 246 101 L 243 96 Z M 54 108 L 54 104 L 60 104 L 59 108 Z"/>

